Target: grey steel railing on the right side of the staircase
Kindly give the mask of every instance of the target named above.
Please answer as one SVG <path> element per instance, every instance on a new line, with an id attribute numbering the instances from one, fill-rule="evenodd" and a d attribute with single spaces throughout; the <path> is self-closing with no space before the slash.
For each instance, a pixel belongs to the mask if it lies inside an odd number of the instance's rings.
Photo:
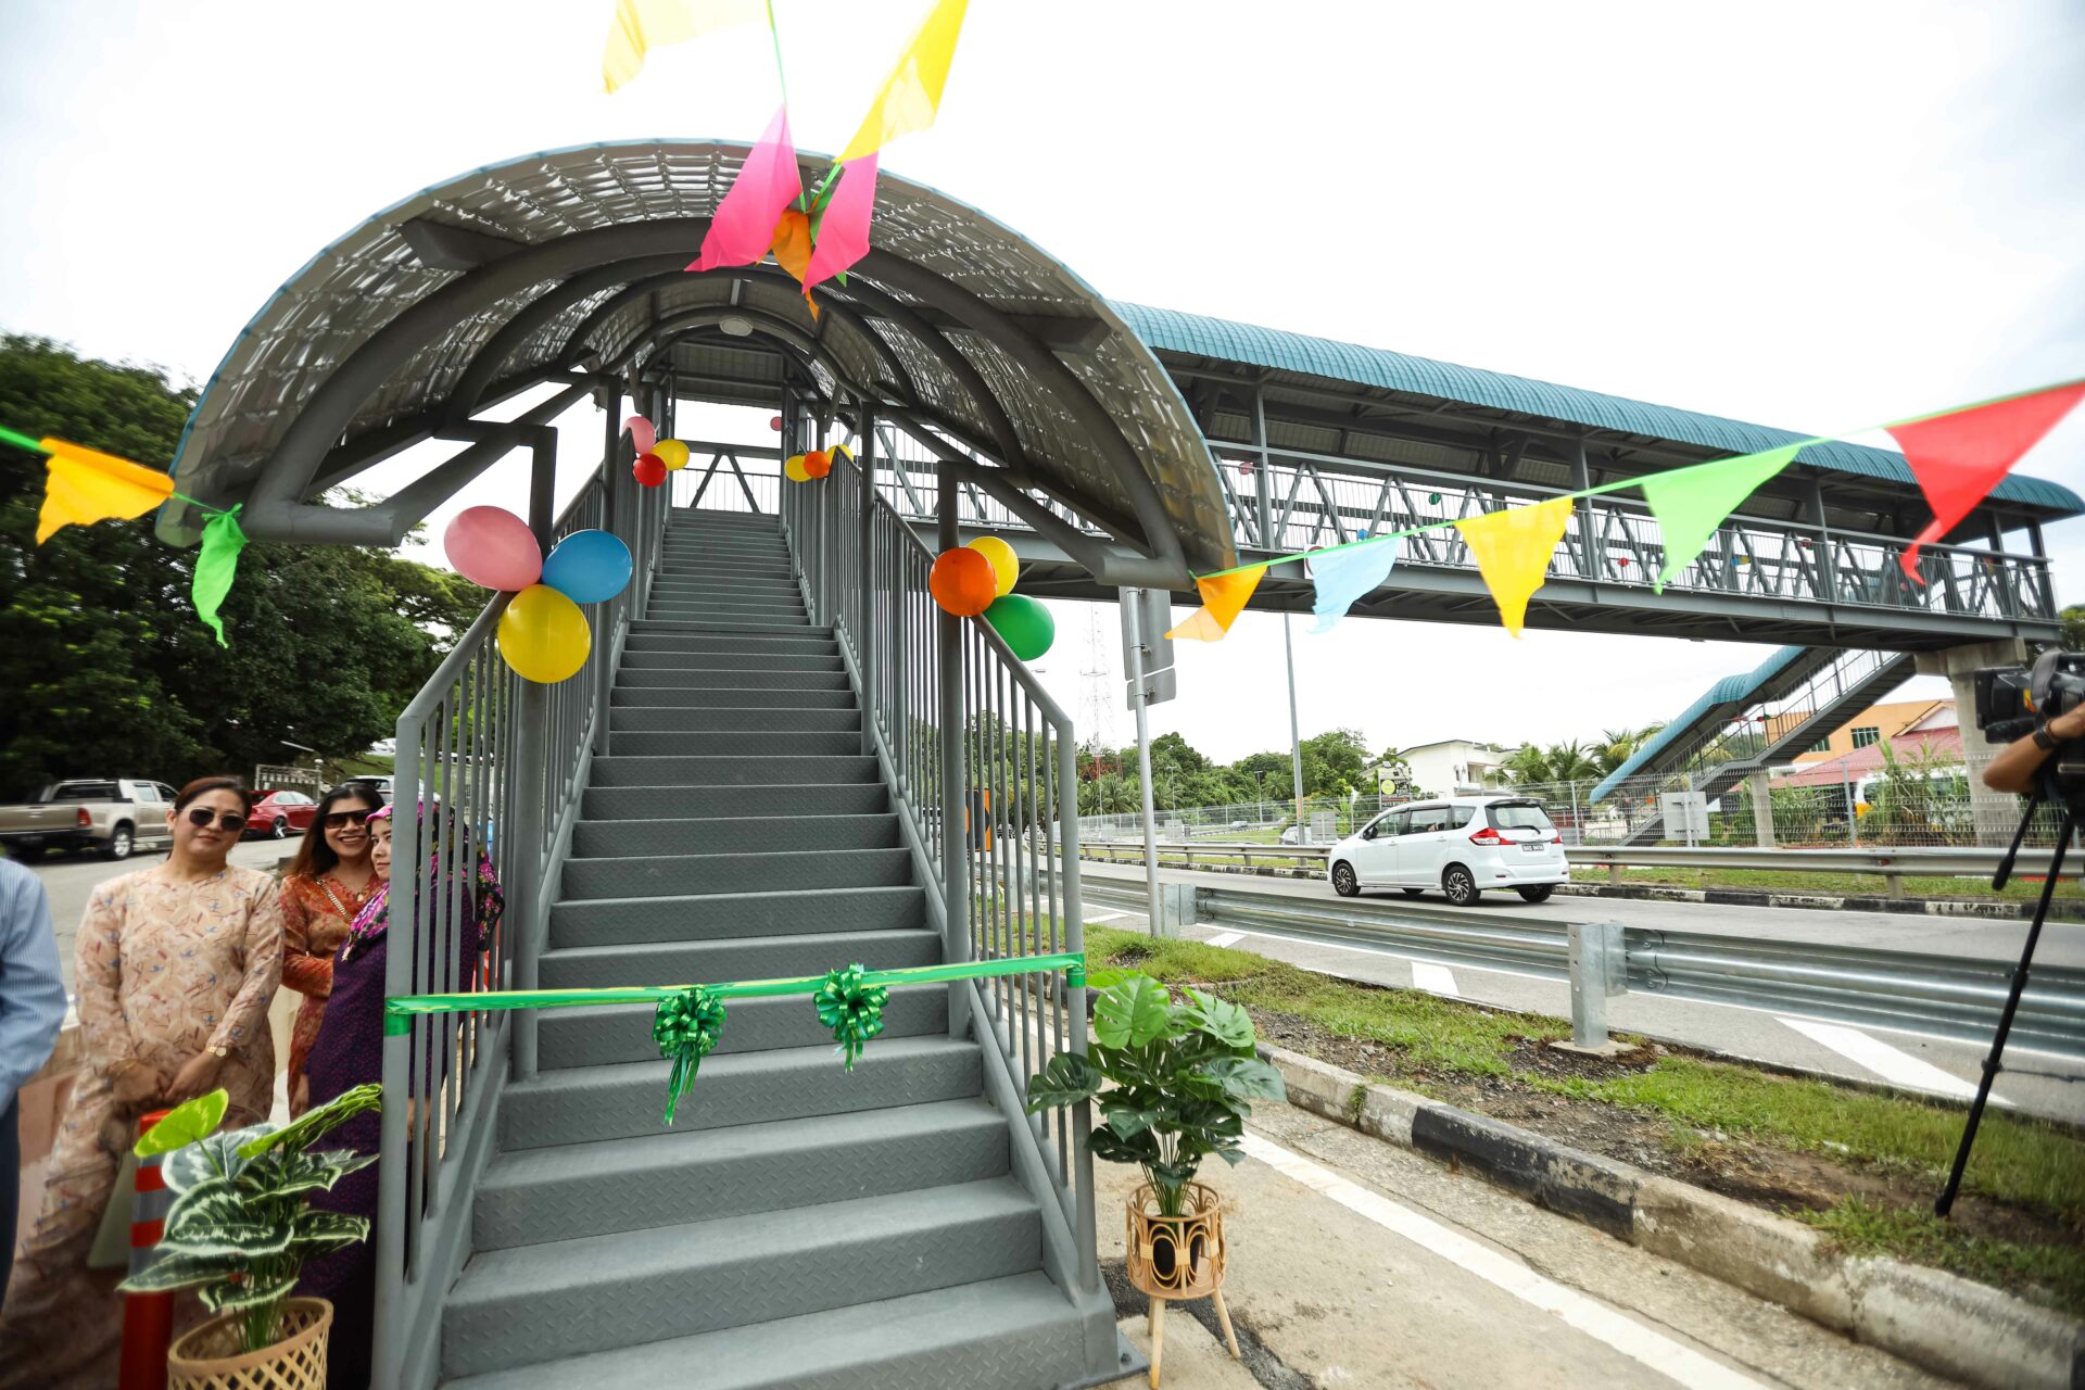
<path id="1" fill-rule="evenodd" d="M 934 552 L 876 477 L 863 446 L 859 463 L 840 458 L 815 483 L 784 483 L 782 525 L 811 621 L 832 625 L 861 696 L 865 752 L 894 790 L 945 954 L 1082 952 L 1078 817 L 1059 815 L 1076 788 L 1072 721 L 986 623 L 940 613 L 928 592 Z M 949 1004 L 951 1029 L 984 1044 L 1017 1169 L 1055 1194 L 1051 1271 L 1097 1294 L 1090 1107 L 1024 1115 L 1028 1077 L 1055 1052 L 1086 1050 L 1084 986 L 1028 971 L 959 982 Z"/>

